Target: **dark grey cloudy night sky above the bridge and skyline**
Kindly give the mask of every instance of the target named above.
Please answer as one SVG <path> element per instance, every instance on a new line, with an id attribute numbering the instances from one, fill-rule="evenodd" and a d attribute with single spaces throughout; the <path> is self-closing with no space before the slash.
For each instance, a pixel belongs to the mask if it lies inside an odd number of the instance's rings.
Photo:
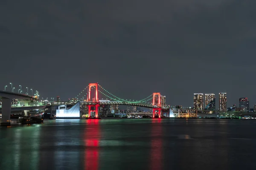
<path id="1" fill-rule="evenodd" d="M 99 82 L 169 105 L 227 92 L 256 102 L 256 0 L 0 0 L 0 89 L 46 99 Z M 9 89 L 10 86 L 7 88 Z M 218 102 L 216 103 L 218 108 Z"/>

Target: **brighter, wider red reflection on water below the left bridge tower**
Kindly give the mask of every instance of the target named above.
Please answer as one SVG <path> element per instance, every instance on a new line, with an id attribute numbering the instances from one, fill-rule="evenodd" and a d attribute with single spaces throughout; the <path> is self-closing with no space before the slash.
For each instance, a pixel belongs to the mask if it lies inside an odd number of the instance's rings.
<path id="1" fill-rule="evenodd" d="M 84 170 L 99 169 L 99 119 L 88 119 L 84 129 Z"/>

